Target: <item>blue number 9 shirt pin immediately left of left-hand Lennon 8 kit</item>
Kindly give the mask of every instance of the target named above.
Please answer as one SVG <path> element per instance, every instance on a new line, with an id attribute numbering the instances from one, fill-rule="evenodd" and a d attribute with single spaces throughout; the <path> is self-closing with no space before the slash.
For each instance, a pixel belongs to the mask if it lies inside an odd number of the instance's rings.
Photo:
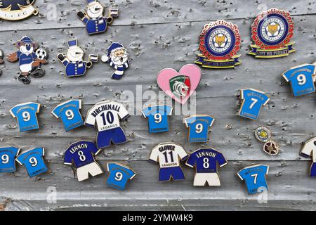
<path id="1" fill-rule="evenodd" d="M 18 158 L 16 158 L 16 161 L 20 165 L 25 166 L 29 177 L 33 177 L 48 171 L 44 160 L 44 155 L 44 148 L 32 148 L 20 153 Z"/>

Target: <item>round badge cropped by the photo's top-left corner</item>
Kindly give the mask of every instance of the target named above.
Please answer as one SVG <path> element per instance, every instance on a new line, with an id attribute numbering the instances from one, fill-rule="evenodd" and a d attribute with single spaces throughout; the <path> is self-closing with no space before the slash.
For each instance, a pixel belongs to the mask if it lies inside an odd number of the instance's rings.
<path id="1" fill-rule="evenodd" d="M 39 11 L 33 6 L 35 0 L 0 0 L 0 18 L 4 20 L 23 20 Z"/>

